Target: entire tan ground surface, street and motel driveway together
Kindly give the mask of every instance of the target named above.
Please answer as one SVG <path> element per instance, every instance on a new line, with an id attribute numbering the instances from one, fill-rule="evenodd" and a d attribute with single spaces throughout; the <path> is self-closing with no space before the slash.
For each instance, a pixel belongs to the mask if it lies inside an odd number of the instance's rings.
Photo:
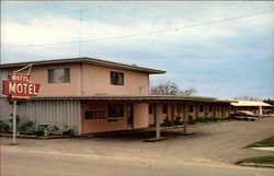
<path id="1" fill-rule="evenodd" d="M 274 118 L 191 127 L 194 136 L 116 134 L 95 139 L 27 140 L 9 145 L 1 138 L 1 176 L 273 176 L 272 168 L 235 166 L 239 159 L 274 155 L 242 146 L 274 136 Z"/>

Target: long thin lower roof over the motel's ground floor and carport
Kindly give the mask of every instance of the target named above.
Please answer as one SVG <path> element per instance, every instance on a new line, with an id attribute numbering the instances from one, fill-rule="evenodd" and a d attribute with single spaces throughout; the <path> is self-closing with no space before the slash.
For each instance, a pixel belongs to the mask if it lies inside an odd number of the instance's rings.
<path id="1" fill-rule="evenodd" d="M 190 101 L 207 103 L 231 103 L 233 101 L 217 99 L 205 96 L 179 96 L 179 95 L 99 95 L 99 96 L 36 96 L 32 99 L 81 99 L 81 101 Z"/>

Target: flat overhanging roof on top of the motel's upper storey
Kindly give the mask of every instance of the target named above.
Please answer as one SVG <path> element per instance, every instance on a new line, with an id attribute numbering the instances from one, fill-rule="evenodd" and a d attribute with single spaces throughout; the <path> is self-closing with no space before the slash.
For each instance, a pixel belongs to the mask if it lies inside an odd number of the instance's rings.
<path id="1" fill-rule="evenodd" d="M 144 68 L 144 67 L 135 66 L 135 64 L 124 64 L 124 63 L 106 61 L 106 60 L 100 60 L 100 59 L 88 58 L 88 57 L 2 63 L 2 64 L 0 64 L 0 69 L 24 67 L 24 66 L 27 66 L 27 64 L 31 64 L 31 63 L 33 66 L 53 66 L 53 64 L 64 64 L 64 63 L 68 63 L 68 64 L 70 64 L 70 63 L 72 63 L 72 64 L 75 64 L 75 63 L 85 63 L 85 64 L 92 64 L 92 66 L 99 66 L 99 67 L 106 67 L 106 68 L 136 71 L 136 72 L 144 72 L 144 73 L 149 73 L 149 74 L 163 74 L 163 73 L 165 73 L 165 71 L 163 71 L 163 70 Z"/>

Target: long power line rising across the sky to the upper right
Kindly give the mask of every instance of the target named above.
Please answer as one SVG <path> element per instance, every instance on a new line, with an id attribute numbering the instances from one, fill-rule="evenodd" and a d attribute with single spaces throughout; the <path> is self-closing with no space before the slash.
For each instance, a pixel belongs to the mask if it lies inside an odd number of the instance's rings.
<path id="1" fill-rule="evenodd" d="M 10 46 L 3 46 L 3 47 L 43 47 L 43 46 L 50 46 L 50 45 L 70 45 L 70 44 L 78 44 L 78 43 L 83 44 L 83 43 L 95 43 L 95 42 L 105 42 L 105 40 L 114 40 L 114 39 L 125 39 L 125 38 L 133 38 L 133 37 L 137 37 L 137 36 L 142 36 L 142 35 L 152 35 L 152 34 L 167 33 L 167 32 L 178 32 L 179 30 L 182 30 L 182 28 L 197 27 L 197 26 L 202 26 L 202 25 L 209 25 L 209 24 L 217 24 L 217 23 L 222 23 L 222 22 L 228 22 L 228 21 L 235 21 L 235 20 L 238 20 L 238 19 L 260 15 L 260 14 L 269 13 L 269 12 L 273 12 L 273 11 L 274 10 L 269 10 L 269 11 L 262 11 L 262 12 L 256 12 L 256 13 L 251 13 L 251 14 L 246 14 L 246 15 L 240 15 L 240 16 L 235 16 L 235 17 L 228 17 L 228 19 L 203 22 L 203 23 L 182 26 L 182 27 L 148 31 L 148 32 L 137 33 L 137 34 L 129 34 L 129 35 L 122 35 L 122 36 L 92 38 L 92 39 L 85 39 L 85 40 L 73 40 L 73 42 L 53 43 L 53 44 L 18 45 L 18 46 L 10 45 Z"/>

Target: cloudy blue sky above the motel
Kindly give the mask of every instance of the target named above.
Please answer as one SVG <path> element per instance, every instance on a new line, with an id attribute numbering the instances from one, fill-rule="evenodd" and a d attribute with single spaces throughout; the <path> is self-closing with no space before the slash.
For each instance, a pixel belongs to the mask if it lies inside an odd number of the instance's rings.
<path id="1" fill-rule="evenodd" d="M 274 3 L 1 1 L 1 63 L 91 57 L 196 95 L 274 97 Z"/>

